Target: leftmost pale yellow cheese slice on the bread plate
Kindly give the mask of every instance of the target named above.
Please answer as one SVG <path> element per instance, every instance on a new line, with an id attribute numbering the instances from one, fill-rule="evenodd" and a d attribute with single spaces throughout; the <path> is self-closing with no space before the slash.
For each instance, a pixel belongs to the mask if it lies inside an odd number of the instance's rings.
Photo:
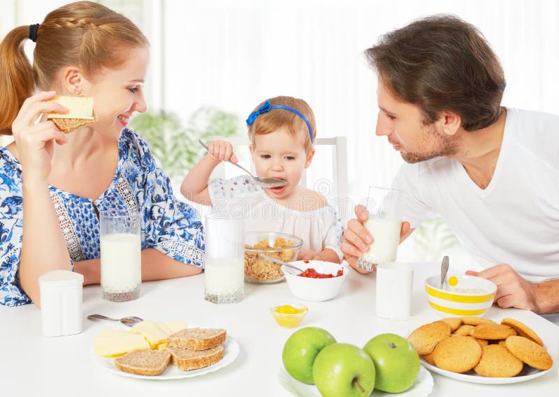
<path id="1" fill-rule="evenodd" d="M 150 343 L 140 334 L 103 329 L 94 337 L 94 352 L 102 357 L 114 357 L 133 350 L 150 349 Z"/>

